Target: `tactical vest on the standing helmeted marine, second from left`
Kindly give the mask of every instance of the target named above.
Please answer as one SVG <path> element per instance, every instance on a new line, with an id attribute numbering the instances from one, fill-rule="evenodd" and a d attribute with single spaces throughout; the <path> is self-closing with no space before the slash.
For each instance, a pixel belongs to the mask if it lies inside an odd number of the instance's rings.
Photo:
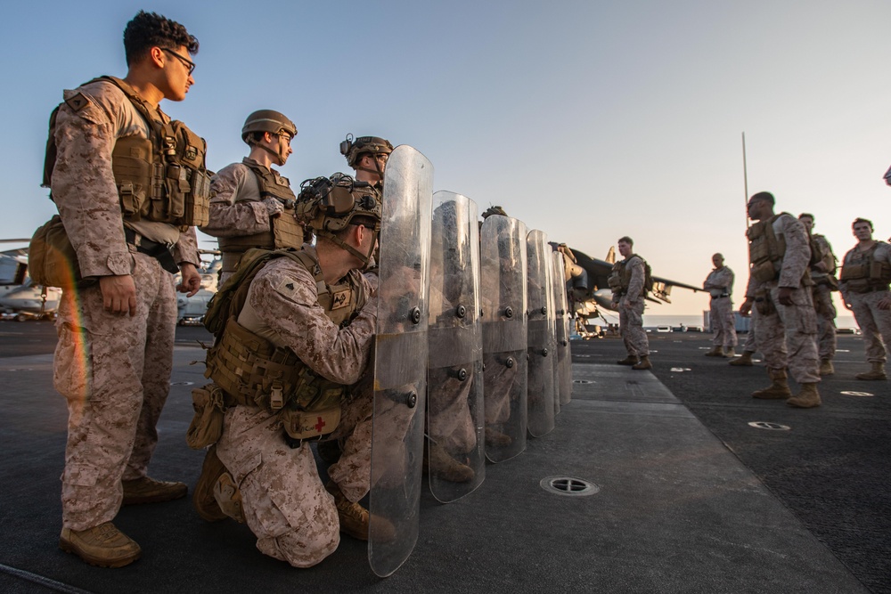
<path id="1" fill-rule="evenodd" d="M 284 212 L 276 218 L 269 219 L 269 231 L 253 235 L 235 235 L 219 238 L 219 247 L 223 252 L 223 270 L 231 273 L 235 270 L 241 254 L 250 248 L 284 249 L 300 248 L 303 245 L 303 225 L 294 218 L 294 203 L 297 197 L 290 189 L 287 177 L 275 175 L 268 167 L 255 163 L 243 163 L 257 179 L 260 199 L 274 198 L 282 202 Z M 241 201 L 238 197 L 235 201 Z"/>

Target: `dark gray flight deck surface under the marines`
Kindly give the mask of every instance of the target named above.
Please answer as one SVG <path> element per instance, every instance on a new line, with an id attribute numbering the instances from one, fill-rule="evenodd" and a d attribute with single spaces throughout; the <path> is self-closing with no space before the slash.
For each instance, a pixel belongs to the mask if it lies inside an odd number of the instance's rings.
<path id="1" fill-rule="evenodd" d="M 48 324 L 32 330 L 41 325 L 0 323 L 2 592 L 891 591 L 887 519 L 862 526 L 827 518 L 830 532 L 837 524 L 850 532 L 852 556 L 838 549 L 844 544 L 830 549 L 834 541 L 813 523 L 819 514 L 802 512 L 813 508 L 808 497 L 825 499 L 813 490 L 831 484 L 831 476 L 814 476 L 808 467 L 814 455 L 832 472 L 839 464 L 856 466 L 850 448 L 870 447 L 839 438 L 838 423 L 854 418 L 873 421 L 869 433 L 885 466 L 869 469 L 865 484 L 835 491 L 884 485 L 877 502 L 862 505 L 876 517 L 891 516 L 887 383 L 870 383 L 878 397 L 835 396 L 833 387 L 822 409 L 788 411 L 781 402 L 748 397 L 764 384 L 763 367 L 729 368 L 701 357 L 705 335 L 654 336 L 656 373 L 615 365 L 622 355 L 618 341 L 573 343 L 575 392 L 555 430 L 529 440 L 518 458 L 488 465 L 485 482 L 462 500 L 441 505 L 425 487 L 417 546 L 387 579 L 372 574 L 365 543 L 349 537 L 321 565 L 290 568 L 260 554 L 245 526 L 200 520 L 189 498 L 122 509 L 116 524 L 140 543 L 143 558 L 121 569 L 87 566 L 57 547 L 67 412 L 52 387 Z M 191 386 L 184 382 L 203 381 L 203 368 L 189 365 L 203 354 L 186 346 L 190 332 L 182 330 L 177 344 L 151 474 L 191 488 L 203 452 L 184 443 L 192 417 Z M 847 340 L 850 362 L 838 364 L 839 387 L 864 367 L 859 338 Z M 683 398 L 673 391 L 683 391 Z M 759 430 L 748 427 L 749 420 L 785 422 L 792 430 Z M 771 484 L 774 467 L 811 472 L 798 472 L 801 488 L 793 481 L 786 489 Z M 548 492 L 540 483 L 551 476 L 582 479 L 600 491 L 576 497 Z M 833 496 L 859 501 L 855 493 Z M 859 516 L 857 509 L 835 511 Z M 868 555 L 857 555 L 857 542 L 872 547 Z"/>

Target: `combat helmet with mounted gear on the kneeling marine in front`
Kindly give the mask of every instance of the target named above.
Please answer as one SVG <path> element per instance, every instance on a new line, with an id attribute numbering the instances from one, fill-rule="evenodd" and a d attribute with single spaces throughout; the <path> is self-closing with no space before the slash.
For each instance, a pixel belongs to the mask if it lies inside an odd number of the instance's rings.
<path id="1" fill-rule="evenodd" d="M 371 194 L 356 191 L 361 184 L 344 174 L 307 179 L 300 184 L 294 216 L 316 235 L 332 240 L 368 264 L 371 252 L 362 254 L 336 235 L 348 224 L 363 224 L 375 234 L 380 231 L 380 202 Z"/>

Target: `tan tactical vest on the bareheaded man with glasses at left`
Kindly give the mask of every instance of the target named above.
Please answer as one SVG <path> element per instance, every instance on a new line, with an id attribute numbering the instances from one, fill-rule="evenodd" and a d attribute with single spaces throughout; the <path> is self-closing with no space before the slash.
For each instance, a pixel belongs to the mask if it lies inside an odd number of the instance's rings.
<path id="1" fill-rule="evenodd" d="M 149 138 L 123 136 L 111 151 L 111 172 L 118 186 L 125 221 L 156 221 L 176 226 L 208 223 L 210 175 L 205 165 L 207 143 L 183 122 L 167 120 L 146 103 L 133 87 L 116 77 L 99 77 L 117 86 L 149 126 Z M 83 86 L 83 85 L 82 85 Z M 71 110 L 86 105 L 78 95 L 66 100 Z M 61 103 L 50 116 L 46 141 L 44 186 L 50 187 L 55 166 L 55 120 Z M 51 196 L 52 198 L 52 196 Z"/>

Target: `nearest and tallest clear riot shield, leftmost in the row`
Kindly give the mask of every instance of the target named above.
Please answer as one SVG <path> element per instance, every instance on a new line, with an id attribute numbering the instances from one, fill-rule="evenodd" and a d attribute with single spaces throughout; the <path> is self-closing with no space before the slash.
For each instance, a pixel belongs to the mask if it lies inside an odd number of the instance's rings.
<path id="1" fill-rule="evenodd" d="M 368 560 L 380 577 L 395 572 L 418 540 L 432 187 L 429 160 L 410 146 L 396 147 L 384 173 L 374 342 Z"/>

